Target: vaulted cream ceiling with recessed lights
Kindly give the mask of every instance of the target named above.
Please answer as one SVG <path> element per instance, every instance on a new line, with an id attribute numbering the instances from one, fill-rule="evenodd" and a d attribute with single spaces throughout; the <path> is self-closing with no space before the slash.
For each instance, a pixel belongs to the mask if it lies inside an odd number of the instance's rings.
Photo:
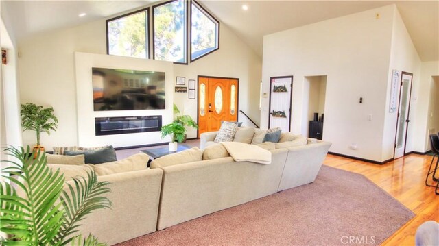
<path id="1" fill-rule="evenodd" d="M 12 21 L 18 40 L 53 29 L 73 27 L 126 12 L 149 1 L 5 1 L 2 14 Z M 439 60 L 439 1 L 215 1 L 202 0 L 262 56 L 263 36 L 384 5 L 396 4 L 414 46 L 423 61 Z M 241 5 L 248 5 L 244 12 Z M 78 14 L 87 15 L 79 18 Z"/>

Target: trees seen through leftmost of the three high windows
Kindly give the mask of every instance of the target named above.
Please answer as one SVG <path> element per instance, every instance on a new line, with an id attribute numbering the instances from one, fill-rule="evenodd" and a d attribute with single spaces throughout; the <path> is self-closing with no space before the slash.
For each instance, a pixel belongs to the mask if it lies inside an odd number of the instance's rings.
<path id="1" fill-rule="evenodd" d="M 108 54 L 148 57 L 148 9 L 107 21 Z"/>

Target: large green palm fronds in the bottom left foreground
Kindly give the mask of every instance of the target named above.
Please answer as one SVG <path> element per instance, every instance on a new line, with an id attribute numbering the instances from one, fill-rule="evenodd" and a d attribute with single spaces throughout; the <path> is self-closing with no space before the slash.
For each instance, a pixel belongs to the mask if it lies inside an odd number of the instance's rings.
<path id="1" fill-rule="evenodd" d="M 103 196 L 110 192 L 109 182 L 98 182 L 91 171 L 64 189 L 64 175 L 47 167 L 43 151 L 35 159 L 29 146 L 6 151 L 19 162 L 9 161 L 2 170 L 10 181 L 0 183 L 0 231 L 8 234 L 2 245 L 105 245 L 75 233 L 87 214 L 112 206 Z"/>

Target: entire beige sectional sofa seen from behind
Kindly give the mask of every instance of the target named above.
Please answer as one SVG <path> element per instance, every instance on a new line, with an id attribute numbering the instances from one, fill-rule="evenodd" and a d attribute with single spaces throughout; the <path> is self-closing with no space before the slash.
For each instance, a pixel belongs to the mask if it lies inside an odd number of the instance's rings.
<path id="1" fill-rule="evenodd" d="M 84 236 L 93 234 L 113 245 L 313 182 L 331 146 L 302 136 L 291 138 L 288 133 L 281 137 L 282 143 L 260 143 L 257 131 L 263 130 L 254 131 L 254 138 L 245 138 L 246 143 L 265 149 L 261 151 L 271 156 L 270 164 L 235 161 L 222 144 L 210 143 L 216 133 L 209 132 L 201 136 L 204 151 L 195 147 L 155 159 L 151 169 L 145 169 L 149 156 L 144 153 L 95 165 L 48 165 L 61 169 L 70 183 L 71 177 L 86 176 L 91 169 L 99 181 L 111 183 L 107 197 L 112 209 L 89 214 L 79 229 Z"/>

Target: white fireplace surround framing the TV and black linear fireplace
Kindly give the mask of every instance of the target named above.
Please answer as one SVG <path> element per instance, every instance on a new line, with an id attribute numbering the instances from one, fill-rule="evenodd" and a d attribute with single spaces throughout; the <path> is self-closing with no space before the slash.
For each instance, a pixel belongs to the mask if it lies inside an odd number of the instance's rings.
<path id="1" fill-rule="evenodd" d="M 95 112 L 93 110 L 92 67 L 165 72 L 165 110 L 120 110 Z M 92 147 L 112 145 L 113 147 L 128 147 L 169 142 L 169 139 L 167 138 L 161 139 L 160 132 L 95 136 L 95 118 L 161 115 L 163 125 L 170 123 L 173 119 L 172 106 L 174 103 L 174 69 L 172 62 L 75 52 L 75 73 L 77 105 L 76 113 L 78 114 L 79 146 Z"/>

